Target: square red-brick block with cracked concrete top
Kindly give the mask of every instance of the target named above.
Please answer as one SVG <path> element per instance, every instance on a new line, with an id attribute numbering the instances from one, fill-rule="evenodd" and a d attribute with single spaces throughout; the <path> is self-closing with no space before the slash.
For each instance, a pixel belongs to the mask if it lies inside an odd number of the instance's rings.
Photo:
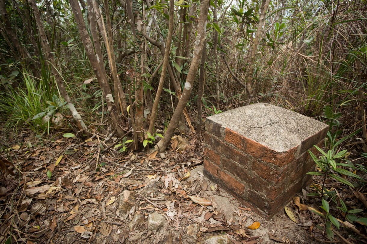
<path id="1" fill-rule="evenodd" d="M 315 163 L 308 149 L 321 146 L 328 126 L 267 103 L 206 119 L 204 175 L 271 218 L 309 184 Z"/>

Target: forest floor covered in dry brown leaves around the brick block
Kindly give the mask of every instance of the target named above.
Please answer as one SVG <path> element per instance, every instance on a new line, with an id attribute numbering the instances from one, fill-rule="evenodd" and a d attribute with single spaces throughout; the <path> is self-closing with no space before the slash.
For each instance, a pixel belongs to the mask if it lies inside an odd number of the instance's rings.
<path id="1" fill-rule="evenodd" d="M 175 136 L 161 154 L 121 154 L 102 151 L 102 136 L 34 141 L 23 133 L 22 144 L 18 138 L 1 152 L 1 243 L 331 242 L 309 211 L 320 209 L 319 198 L 307 196 L 320 186 L 317 177 L 266 221 L 203 177 L 203 148 L 193 136 L 191 143 Z M 329 179 L 326 189 L 348 193 L 336 184 Z M 349 193 L 348 206 L 363 208 L 364 194 Z M 335 232 L 365 243 L 366 229 L 353 226 Z M 333 243 L 341 242 L 338 234 Z"/>

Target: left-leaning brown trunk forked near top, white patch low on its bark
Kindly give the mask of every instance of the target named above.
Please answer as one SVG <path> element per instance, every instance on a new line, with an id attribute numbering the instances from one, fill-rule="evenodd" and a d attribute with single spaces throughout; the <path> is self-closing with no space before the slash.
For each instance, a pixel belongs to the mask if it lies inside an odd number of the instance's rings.
<path id="1" fill-rule="evenodd" d="M 32 0 L 34 1 L 34 0 Z M 88 3 L 89 2 L 89 3 Z M 81 10 L 79 7 L 79 2 L 77 0 L 70 0 L 70 5 L 71 8 L 73 10 L 74 13 L 74 17 L 79 29 L 79 33 L 80 33 L 80 37 L 81 40 L 83 42 L 84 48 L 86 50 L 88 59 L 92 65 L 92 69 L 94 70 L 94 73 L 97 77 L 99 86 L 101 86 L 102 92 L 103 92 L 103 98 L 106 99 L 107 102 L 107 109 L 110 113 L 111 116 L 111 120 L 112 120 L 112 124 L 114 129 L 116 130 L 117 134 L 121 137 L 123 136 L 125 133 L 123 131 L 123 129 L 120 126 L 121 123 L 121 118 L 119 117 L 119 114 L 117 112 L 117 108 L 115 106 L 115 103 L 113 101 L 113 97 L 112 97 L 112 93 L 111 93 L 111 89 L 110 86 L 108 85 L 108 81 L 107 81 L 107 75 L 106 75 L 106 70 L 104 66 L 101 66 L 100 62 L 98 62 L 99 60 L 102 60 L 102 54 L 101 54 L 101 49 L 99 48 L 99 40 L 98 40 L 98 35 L 97 35 L 97 29 L 95 27 L 95 15 L 94 15 L 94 11 L 90 0 L 87 1 L 88 4 L 88 9 L 89 9 L 89 14 L 91 17 L 91 26 L 93 26 L 91 32 L 92 32 L 92 36 L 95 42 L 95 49 L 93 48 L 93 43 L 92 40 L 89 36 L 89 33 L 87 31 L 87 27 L 86 24 L 84 23 L 84 19 L 83 19 L 83 15 L 81 14 Z M 98 59 L 97 59 L 97 55 L 98 55 Z M 102 62 L 101 62 L 102 63 Z"/>

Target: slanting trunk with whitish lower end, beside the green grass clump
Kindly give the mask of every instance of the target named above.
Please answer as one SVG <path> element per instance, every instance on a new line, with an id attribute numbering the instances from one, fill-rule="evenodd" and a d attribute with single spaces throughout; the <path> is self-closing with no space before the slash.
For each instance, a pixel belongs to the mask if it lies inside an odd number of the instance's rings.
<path id="1" fill-rule="evenodd" d="M 51 47 L 50 47 L 50 44 L 48 43 L 46 32 L 45 32 L 43 23 L 41 21 L 41 14 L 40 14 L 40 11 L 39 11 L 39 9 L 36 5 L 35 0 L 29 0 L 29 5 L 33 10 L 34 18 L 36 19 L 36 24 L 37 24 L 38 30 L 40 32 L 41 42 L 42 42 L 42 46 L 43 46 L 43 49 L 44 49 L 44 57 L 51 64 L 51 70 L 52 70 L 52 73 L 54 73 L 54 77 L 55 77 L 57 86 L 60 90 L 60 93 L 63 96 L 63 98 L 65 99 L 65 101 L 66 101 L 66 103 L 69 107 L 70 112 L 72 112 L 73 118 L 77 121 L 77 126 L 79 127 L 79 129 L 85 129 L 85 128 L 87 128 L 87 126 L 84 124 L 83 120 L 81 119 L 80 114 L 78 113 L 78 111 L 74 107 L 74 104 L 72 104 L 71 99 L 70 99 L 68 93 L 66 92 L 65 86 L 63 84 L 61 74 L 60 74 L 59 70 L 57 69 L 57 65 L 56 65 L 56 62 L 55 62 L 55 59 L 54 59 L 54 55 L 51 52 Z"/>

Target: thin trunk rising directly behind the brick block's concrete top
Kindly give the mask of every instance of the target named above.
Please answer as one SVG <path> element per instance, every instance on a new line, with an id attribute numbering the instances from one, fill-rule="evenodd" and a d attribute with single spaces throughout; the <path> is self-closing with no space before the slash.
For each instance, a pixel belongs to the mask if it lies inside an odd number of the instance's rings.
<path id="1" fill-rule="evenodd" d="M 252 45 L 252 51 L 251 51 L 251 59 L 247 73 L 247 79 L 246 79 L 246 91 L 248 93 L 249 99 L 246 104 L 250 104 L 251 98 L 252 98 L 252 77 L 254 76 L 254 66 L 255 66 L 255 58 L 257 53 L 257 46 L 259 44 L 259 38 L 262 33 L 263 25 L 264 25 L 264 17 L 266 10 L 268 9 L 270 0 L 262 0 L 261 7 L 260 7 L 260 18 L 259 18 L 259 24 L 257 26 L 257 31 L 254 39 L 254 44 Z"/>

